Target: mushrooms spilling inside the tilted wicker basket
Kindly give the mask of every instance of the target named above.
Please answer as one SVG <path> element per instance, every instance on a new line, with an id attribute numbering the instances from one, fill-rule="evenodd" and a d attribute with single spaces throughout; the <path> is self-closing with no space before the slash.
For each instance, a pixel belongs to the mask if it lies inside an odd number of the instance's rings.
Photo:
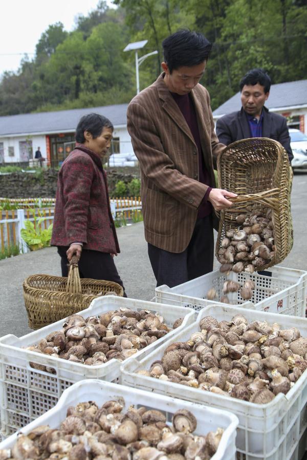
<path id="1" fill-rule="evenodd" d="M 253 273 L 274 257 L 272 211 L 239 214 L 236 222 L 237 227 L 229 228 L 221 240 L 218 250 L 218 260 L 222 264 L 220 270 Z"/>

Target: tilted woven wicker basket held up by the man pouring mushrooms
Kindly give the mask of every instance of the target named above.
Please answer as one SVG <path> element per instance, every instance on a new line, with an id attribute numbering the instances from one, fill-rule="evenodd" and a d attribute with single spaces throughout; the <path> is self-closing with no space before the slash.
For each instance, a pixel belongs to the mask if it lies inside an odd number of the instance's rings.
<path id="1" fill-rule="evenodd" d="M 293 245 L 290 208 L 292 169 L 286 150 L 277 141 L 257 137 L 236 141 L 217 159 L 218 187 L 237 193 L 232 208 L 221 211 L 215 255 L 230 228 L 238 228 L 236 216 L 272 210 L 274 257 L 259 270 L 280 263 Z"/>

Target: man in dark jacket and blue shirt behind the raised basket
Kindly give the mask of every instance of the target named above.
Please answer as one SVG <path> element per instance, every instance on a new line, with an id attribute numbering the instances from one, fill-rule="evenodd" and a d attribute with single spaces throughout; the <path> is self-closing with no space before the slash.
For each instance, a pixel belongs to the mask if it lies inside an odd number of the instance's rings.
<path id="1" fill-rule="evenodd" d="M 242 108 L 216 122 L 218 140 L 229 145 L 249 137 L 269 137 L 280 142 L 293 158 L 286 118 L 264 106 L 270 94 L 271 79 L 261 68 L 253 68 L 240 81 Z"/>

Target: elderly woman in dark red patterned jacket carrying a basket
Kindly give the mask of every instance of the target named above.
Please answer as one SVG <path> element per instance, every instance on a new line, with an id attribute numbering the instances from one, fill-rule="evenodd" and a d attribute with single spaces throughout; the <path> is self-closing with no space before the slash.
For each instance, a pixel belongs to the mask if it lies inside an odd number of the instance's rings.
<path id="1" fill-rule="evenodd" d="M 63 277 L 68 276 L 68 262 L 77 256 L 81 278 L 123 286 L 113 260 L 120 250 L 101 163 L 112 135 L 112 123 L 97 113 L 79 121 L 76 148 L 58 175 L 51 244 L 58 248 Z"/>

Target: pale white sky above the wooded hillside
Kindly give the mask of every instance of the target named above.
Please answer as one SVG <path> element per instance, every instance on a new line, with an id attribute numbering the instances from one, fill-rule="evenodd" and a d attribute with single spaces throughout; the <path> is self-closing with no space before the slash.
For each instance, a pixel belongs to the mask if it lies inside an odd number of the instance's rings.
<path id="1" fill-rule="evenodd" d="M 25 53 L 32 59 L 35 45 L 48 26 L 61 21 L 64 29 L 74 29 L 75 17 L 96 8 L 98 0 L 9 0 L 1 7 L 0 77 L 17 71 Z M 112 2 L 107 1 L 109 6 Z"/>

